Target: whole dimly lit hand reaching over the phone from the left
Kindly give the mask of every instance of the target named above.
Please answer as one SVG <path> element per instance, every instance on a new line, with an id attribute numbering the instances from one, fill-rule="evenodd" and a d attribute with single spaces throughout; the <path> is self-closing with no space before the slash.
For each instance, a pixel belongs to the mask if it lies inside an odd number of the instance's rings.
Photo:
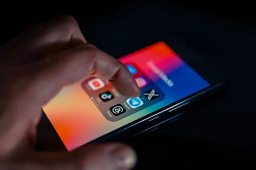
<path id="1" fill-rule="evenodd" d="M 91 144 L 72 152 L 34 150 L 42 106 L 89 74 L 128 97 L 140 94 L 124 64 L 88 44 L 78 24 L 62 16 L 34 24 L 0 49 L 1 170 L 127 170 L 136 163 L 123 144 Z"/>

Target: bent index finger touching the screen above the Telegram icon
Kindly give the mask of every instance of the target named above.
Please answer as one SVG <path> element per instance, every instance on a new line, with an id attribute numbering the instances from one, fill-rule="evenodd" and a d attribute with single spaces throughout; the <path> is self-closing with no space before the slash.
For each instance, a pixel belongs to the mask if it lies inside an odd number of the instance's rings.
<path id="1" fill-rule="evenodd" d="M 40 97 L 43 102 L 40 104 L 45 104 L 63 84 L 78 82 L 90 74 L 109 80 L 124 96 L 133 98 L 140 95 L 140 88 L 128 68 L 91 44 L 66 50 L 53 57 L 46 65 L 43 64 L 43 68 L 34 75 L 32 86 L 28 90 L 35 98 Z"/>

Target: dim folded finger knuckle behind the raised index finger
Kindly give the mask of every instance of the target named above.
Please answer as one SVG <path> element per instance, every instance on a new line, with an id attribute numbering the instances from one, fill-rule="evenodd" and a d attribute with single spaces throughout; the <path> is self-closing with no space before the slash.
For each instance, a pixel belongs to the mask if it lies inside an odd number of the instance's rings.
<path id="1" fill-rule="evenodd" d="M 38 29 L 16 53 L 22 55 L 20 61 L 29 62 L 83 43 L 86 40 L 76 20 L 71 16 L 60 16 Z"/>

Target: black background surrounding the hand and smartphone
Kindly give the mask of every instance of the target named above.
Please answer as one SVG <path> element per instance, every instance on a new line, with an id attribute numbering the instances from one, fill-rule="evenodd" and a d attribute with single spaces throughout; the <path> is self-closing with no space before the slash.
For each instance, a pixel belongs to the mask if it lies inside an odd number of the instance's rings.
<path id="1" fill-rule="evenodd" d="M 256 20 L 251 1 L 83 3 L 3 4 L 1 41 L 38 20 L 71 14 L 89 42 L 116 57 L 159 40 L 186 43 L 226 75 L 227 94 L 166 128 L 128 141 L 138 152 L 138 169 L 250 166 L 256 148 Z M 46 117 L 42 122 L 42 128 L 49 126 Z"/>

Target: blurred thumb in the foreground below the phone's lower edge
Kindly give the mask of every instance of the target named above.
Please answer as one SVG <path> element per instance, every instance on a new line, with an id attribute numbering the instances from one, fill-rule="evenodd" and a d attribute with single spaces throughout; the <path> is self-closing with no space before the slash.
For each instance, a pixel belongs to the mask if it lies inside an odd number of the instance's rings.
<path id="1" fill-rule="evenodd" d="M 17 164 L 20 170 L 129 170 L 136 154 L 122 144 L 91 144 L 72 152 L 35 153 Z"/>

